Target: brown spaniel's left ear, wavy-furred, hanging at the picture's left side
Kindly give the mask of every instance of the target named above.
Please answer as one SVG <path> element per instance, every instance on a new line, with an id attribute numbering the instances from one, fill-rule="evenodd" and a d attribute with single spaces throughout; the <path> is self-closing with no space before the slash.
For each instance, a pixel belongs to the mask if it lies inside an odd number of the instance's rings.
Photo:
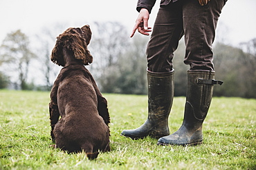
<path id="1" fill-rule="evenodd" d="M 64 59 L 62 56 L 62 50 L 64 45 L 63 45 L 63 42 L 60 41 L 60 36 L 57 36 L 55 47 L 53 47 L 53 51 L 51 54 L 51 61 L 53 61 L 53 63 L 57 65 L 64 66 Z"/>

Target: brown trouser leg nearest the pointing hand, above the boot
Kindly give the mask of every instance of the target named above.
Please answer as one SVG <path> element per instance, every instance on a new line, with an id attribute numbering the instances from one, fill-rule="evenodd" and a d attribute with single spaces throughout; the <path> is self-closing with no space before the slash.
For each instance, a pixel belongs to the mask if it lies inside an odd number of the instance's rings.
<path id="1" fill-rule="evenodd" d="M 174 51 L 183 36 L 182 3 L 170 3 L 159 9 L 151 39 L 147 45 L 147 67 L 151 72 L 172 71 Z"/>

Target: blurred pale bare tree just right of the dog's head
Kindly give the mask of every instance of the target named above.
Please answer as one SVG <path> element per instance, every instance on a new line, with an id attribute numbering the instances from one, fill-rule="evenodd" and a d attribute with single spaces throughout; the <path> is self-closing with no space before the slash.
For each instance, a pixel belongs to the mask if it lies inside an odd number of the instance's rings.
<path id="1" fill-rule="evenodd" d="M 90 25 L 93 36 L 89 50 L 93 55 L 93 63 L 89 66 L 89 70 L 100 88 L 107 87 L 119 74 L 117 63 L 127 50 L 128 34 L 125 27 L 117 22 L 95 22 Z"/>

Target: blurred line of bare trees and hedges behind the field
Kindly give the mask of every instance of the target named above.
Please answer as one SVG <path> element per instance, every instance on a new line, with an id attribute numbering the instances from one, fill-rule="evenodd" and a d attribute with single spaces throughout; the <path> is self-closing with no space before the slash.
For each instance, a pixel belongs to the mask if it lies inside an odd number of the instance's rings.
<path id="1" fill-rule="evenodd" d="M 0 88 L 50 90 L 61 67 L 50 61 L 58 34 L 66 25 L 44 29 L 30 44 L 26 34 L 17 30 L 6 35 L 0 47 Z M 92 23 L 89 50 L 93 63 L 86 66 L 104 93 L 147 94 L 145 50 L 149 37 L 137 34 L 129 39 L 124 25 L 116 22 Z M 232 47 L 216 42 L 213 47 L 216 79 L 214 96 L 256 98 L 256 39 Z M 183 63 L 185 45 L 181 40 L 174 54 L 175 96 L 185 96 L 188 65 Z M 30 79 L 29 79 L 30 77 Z M 32 77 L 32 78 L 31 78 Z M 37 85 L 35 81 L 40 81 Z"/>

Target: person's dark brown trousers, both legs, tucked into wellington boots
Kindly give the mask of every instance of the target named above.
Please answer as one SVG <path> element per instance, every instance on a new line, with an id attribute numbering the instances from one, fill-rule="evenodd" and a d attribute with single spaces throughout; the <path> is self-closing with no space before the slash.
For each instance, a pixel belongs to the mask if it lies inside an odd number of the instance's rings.
<path id="1" fill-rule="evenodd" d="M 147 67 L 152 72 L 171 72 L 174 51 L 185 37 L 184 63 L 190 70 L 214 70 L 212 43 L 217 21 L 227 0 L 179 0 L 161 6 L 147 45 Z"/>

